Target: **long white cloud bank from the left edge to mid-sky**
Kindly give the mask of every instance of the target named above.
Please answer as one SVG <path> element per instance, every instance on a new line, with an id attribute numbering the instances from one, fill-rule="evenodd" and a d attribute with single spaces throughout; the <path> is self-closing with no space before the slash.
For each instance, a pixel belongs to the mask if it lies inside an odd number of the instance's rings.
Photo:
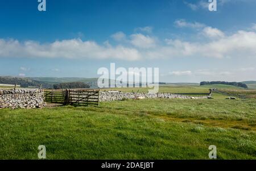
<path id="1" fill-rule="evenodd" d="M 94 41 L 82 41 L 81 39 L 61 40 L 46 44 L 36 41 L 20 43 L 18 40 L 0 39 L 0 57 L 139 60 L 141 54 L 135 48 L 122 45 L 105 47 Z"/>

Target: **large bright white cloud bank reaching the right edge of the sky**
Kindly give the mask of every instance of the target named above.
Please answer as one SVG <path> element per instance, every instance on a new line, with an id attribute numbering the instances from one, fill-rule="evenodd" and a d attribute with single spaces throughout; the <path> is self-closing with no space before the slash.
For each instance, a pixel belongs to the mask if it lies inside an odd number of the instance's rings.
<path id="1" fill-rule="evenodd" d="M 166 40 L 168 46 L 159 49 L 159 56 L 197 56 L 197 57 L 255 57 L 256 33 L 238 31 L 207 43 Z M 165 54 L 165 55 L 164 55 Z"/>

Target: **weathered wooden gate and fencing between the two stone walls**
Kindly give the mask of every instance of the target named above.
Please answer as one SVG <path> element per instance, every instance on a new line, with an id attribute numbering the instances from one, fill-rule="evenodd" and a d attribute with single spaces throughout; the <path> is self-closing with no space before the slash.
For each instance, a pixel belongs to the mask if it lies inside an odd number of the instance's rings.
<path id="1" fill-rule="evenodd" d="M 100 90 L 52 90 L 44 91 L 44 100 L 50 103 L 63 105 L 88 106 L 100 105 Z"/>

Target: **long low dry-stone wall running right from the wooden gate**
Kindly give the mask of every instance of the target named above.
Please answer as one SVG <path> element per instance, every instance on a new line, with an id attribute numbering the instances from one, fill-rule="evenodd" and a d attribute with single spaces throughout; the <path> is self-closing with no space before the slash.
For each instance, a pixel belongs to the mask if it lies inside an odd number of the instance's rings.
<path id="1" fill-rule="evenodd" d="M 146 99 L 146 98 L 180 98 L 180 99 L 207 99 L 210 96 L 195 96 L 171 94 L 171 93 L 122 93 L 122 92 L 108 92 L 100 91 L 100 101 L 122 101 L 124 99 Z"/>

